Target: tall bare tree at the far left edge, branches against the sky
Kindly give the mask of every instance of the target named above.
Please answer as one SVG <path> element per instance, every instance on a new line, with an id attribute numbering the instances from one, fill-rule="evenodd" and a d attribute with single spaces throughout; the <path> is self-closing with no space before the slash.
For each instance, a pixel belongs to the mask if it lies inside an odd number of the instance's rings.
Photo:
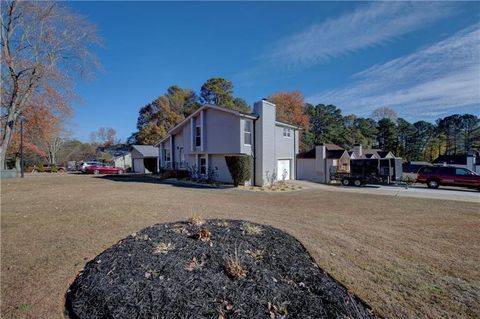
<path id="1" fill-rule="evenodd" d="M 96 28 L 58 2 L 1 3 L 1 144 L 0 168 L 12 129 L 38 96 L 43 107 L 69 108 L 72 76 L 88 75 L 99 66 L 90 51 L 99 44 Z M 93 67 L 93 68 L 92 68 Z"/>

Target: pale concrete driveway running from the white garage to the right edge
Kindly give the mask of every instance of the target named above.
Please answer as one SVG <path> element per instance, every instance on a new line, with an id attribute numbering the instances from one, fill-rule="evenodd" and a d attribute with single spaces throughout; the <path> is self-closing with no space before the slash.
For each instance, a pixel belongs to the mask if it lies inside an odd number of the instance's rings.
<path id="1" fill-rule="evenodd" d="M 474 202 L 480 204 L 480 192 L 468 188 L 442 188 L 430 189 L 424 185 L 413 185 L 408 189 L 404 186 L 394 185 L 365 185 L 362 187 L 341 186 L 336 184 L 319 184 L 309 181 L 291 181 L 294 184 L 300 185 L 303 188 L 323 189 L 323 190 L 337 190 L 339 192 L 347 193 L 365 193 L 376 195 L 389 195 L 398 197 L 416 197 L 416 198 L 431 198 L 456 200 L 464 202 Z"/>

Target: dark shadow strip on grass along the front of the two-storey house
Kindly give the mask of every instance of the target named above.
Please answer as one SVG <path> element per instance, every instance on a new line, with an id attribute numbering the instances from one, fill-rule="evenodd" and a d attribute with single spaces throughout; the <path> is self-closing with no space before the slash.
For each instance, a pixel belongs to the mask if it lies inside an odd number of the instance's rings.
<path id="1" fill-rule="evenodd" d="M 171 185 L 175 187 L 182 188 L 193 188 L 193 189 L 228 189 L 233 186 L 222 185 L 222 186 L 213 186 L 208 184 L 196 184 L 190 182 L 183 182 L 176 179 L 160 179 L 158 176 L 154 175 L 102 175 L 95 176 L 95 178 L 105 179 L 113 182 L 124 182 L 124 183 L 150 183 L 150 184 L 161 184 L 161 185 Z"/>

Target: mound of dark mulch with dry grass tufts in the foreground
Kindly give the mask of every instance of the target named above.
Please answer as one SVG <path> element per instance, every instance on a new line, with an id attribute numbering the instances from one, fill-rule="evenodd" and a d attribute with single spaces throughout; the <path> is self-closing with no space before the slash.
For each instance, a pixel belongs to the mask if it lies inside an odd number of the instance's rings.
<path id="1" fill-rule="evenodd" d="M 262 233 L 245 234 L 244 222 L 233 220 L 143 229 L 87 263 L 67 292 L 67 312 L 89 319 L 373 318 L 299 241 L 251 225 Z M 199 236 L 202 229 L 210 238 Z M 244 278 L 226 271 L 235 256 Z"/>

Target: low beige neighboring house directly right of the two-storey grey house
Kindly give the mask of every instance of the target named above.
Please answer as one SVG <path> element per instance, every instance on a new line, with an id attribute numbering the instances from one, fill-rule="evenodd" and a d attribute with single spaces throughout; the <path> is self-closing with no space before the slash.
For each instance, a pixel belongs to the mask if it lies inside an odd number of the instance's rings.
<path id="1" fill-rule="evenodd" d="M 329 183 L 335 172 L 349 172 L 354 153 L 335 144 L 320 144 L 308 152 L 298 154 L 298 179 Z"/>

